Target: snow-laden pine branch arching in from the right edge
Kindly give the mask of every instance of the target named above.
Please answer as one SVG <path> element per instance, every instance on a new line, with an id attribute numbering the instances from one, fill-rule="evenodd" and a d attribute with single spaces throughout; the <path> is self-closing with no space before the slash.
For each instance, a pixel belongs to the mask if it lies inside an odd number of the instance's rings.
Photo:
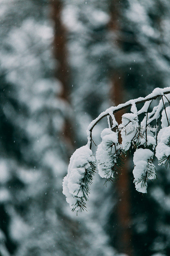
<path id="1" fill-rule="evenodd" d="M 153 100 L 157 98 L 160 98 L 158 105 L 151 108 Z M 139 103 L 144 105 L 137 109 Z M 114 114 L 128 107 L 131 107 L 130 113 L 123 114 L 122 123 L 118 125 Z M 144 114 L 142 120 L 139 117 L 141 114 Z M 160 114 L 161 128 L 159 129 Z M 91 150 L 92 130 L 105 116 L 107 116 L 108 128 L 101 132 L 102 141 L 96 151 L 101 178 L 105 178 L 106 181 L 116 181 L 130 150 L 134 154 L 135 187 L 137 191 L 147 193 L 147 181 L 156 178 L 153 163 L 155 157 L 159 165 L 165 165 L 166 168 L 170 165 L 170 87 L 156 88 L 145 98 L 139 97 L 108 108 L 89 124 L 87 145 L 78 148 L 71 156 L 68 174 L 63 180 L 63 194 L 72 211 L 86 208 L 89 186 L 96 171 L 95 157 Z M 119 135 L 122 138 L 121 143 Z"/>

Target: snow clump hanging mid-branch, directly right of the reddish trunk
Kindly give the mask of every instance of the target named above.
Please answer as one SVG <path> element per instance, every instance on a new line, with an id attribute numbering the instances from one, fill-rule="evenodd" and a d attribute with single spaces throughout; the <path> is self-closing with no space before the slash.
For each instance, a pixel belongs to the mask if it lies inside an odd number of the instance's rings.
<path id="1" fill-rule="evenodd" d="M 133 105 L 132 107 L 132 110 L 135 110 Z M 137 112 L 122 115 L 122 124 L 120 124 L 118 128 L 121 130 L 122 148 L 124 150 L 130 148 L 131 140 L 135 137 L 138 126 Z"/>

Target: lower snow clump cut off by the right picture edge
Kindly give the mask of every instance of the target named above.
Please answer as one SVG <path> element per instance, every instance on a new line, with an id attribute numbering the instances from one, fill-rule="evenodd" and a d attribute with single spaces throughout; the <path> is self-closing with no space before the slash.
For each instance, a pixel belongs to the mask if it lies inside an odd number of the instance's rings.
<path id="1" fill-rule="evenodd" d="M 162 128 L 158 133 L 158 144 L 156 146 L 155 156 L 160 161 L 163 156 L 170 156 L 170 126 Z M 160 165 L 160 164 L 159 164 Z"/>

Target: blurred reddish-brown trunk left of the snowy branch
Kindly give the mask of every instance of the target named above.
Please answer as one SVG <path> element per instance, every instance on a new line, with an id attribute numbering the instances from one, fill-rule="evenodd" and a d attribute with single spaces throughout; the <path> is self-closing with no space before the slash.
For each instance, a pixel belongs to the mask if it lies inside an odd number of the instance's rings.
<path id="1" fill-rule="evenodd" d="M 55 68 L 55 76 L 62 83 L 61 99 L 66 100 L 70 104 L 69 98 L 69 70 L 67 63 L 67 50 L 66 50 L 66 30 L 62 24 L 62 1 L 51 0 L 52 6 L 52 20 L 54 21 L 54 41 L 53 41 L 53 53 L 57 61 Z M 67 142 L 67 146 L 70 149 L 70 154 L 74 151 L 74 132 L 71 122 L 71 107 L 68 107 L 68 116 L 65 118 L 65 124 L 63 127 L 63 136 Z M 69 156 L 70 158 L 70 156 Z"/>

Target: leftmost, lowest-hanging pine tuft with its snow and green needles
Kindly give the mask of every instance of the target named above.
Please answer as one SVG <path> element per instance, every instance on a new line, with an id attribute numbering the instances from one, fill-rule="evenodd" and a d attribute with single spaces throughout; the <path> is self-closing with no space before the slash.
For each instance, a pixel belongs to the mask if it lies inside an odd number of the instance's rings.
<path id="1" fill-rule="evenodd" d="M 72 211 L 85 210 L 95 169 L 95 158 L 87 145 L 78 148 L 71 156 L 68 173 L 63 179 L 63 194 Z"/>

